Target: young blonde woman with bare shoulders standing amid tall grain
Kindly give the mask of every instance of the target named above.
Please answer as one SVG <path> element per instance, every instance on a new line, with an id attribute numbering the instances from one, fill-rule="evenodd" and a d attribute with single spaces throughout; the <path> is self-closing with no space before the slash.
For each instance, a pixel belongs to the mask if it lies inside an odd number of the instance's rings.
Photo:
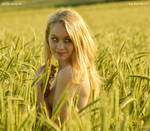
<path id="1" fill-rule="evenodd" d="M 52 65 L 52 56 L 58 61 L 58 72 L 52 83 L 47 84 L 45 94 L 42 93 L 44 77 L 37 83 L 37 103 L 45 103 L 51 117 L 53 107 L 68 89 L 71 103 L 78 92 L 78 108 L 83 108 L 91 97 L 92 89 L 99 87 L 100 83 L 94 64 L 95 43 L 85 22 L 74 10 L 58 10 L 48 19 L 45 39 L 45 64 L 37 69 L 35 79 L 46 72 L 47 67 L 51 67 L 50 78 L 54 77 L 56 67 Z M 61 122 L 67 120 L 66 103 L 59 116 Z"/>

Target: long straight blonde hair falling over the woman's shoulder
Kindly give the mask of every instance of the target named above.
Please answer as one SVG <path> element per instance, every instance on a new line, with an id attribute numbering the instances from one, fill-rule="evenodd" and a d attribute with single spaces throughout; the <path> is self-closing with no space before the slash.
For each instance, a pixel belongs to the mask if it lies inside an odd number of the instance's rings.
<path id="1" fill-rule="evenodd" d="M 100 79 L 95 67 L 95 43 L 82 17 L 74 10 L 60 9 L 49 17 L 45 34 L 45 63 L 51 65 L 52 53 L 48 44 L 48 36 L 52 24 L 62 23 L 73 42 L 74 52 L 71 58 L 73 81 L 78 83 L 88 73 L 91 88 L 100 86 Z"/>

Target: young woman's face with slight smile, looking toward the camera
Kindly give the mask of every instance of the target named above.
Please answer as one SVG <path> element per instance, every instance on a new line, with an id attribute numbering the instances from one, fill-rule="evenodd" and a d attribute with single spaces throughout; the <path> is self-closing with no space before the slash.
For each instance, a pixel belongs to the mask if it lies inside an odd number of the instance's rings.
<path id="1" fill-rule="evenodd" d="M 65 26 L 61 23 L 51 25 L 49 46 L 52 54 L 58 61 L 69 61 L 74 47 Z"/>

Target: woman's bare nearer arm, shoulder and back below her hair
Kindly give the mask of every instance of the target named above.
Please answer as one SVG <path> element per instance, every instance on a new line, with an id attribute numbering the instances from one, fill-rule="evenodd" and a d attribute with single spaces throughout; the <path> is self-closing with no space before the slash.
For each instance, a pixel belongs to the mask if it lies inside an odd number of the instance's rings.
<path id="1" fill-rule="evenodd" d="M 87 104 L 88 98 L 90 96 L 90 88 L 87 87 L 87 84 L 80 85 L 80 84 L 72 83 L 71 82 L 72 73 L 73 73 L 72 67 L 68 66 L 63 71 L 61 71 L 60 74 L 58 74 L 56 92 L 55 92 L 54 103 L 53 103 L 54 106 L 57 103 L 57 101 L 59 101 L 59 98 L 61 97 L 65 89 L 68 89 L 69 91 L 70 103 L 73 103 L 74 95 L 78 90 L 80 92 L 78 108 L 81 109 Z M 65 102 L 59 114 L 62 123 L 68 119 L 68 115 L 69 114 L 67 112 L 67 102 Z"/>

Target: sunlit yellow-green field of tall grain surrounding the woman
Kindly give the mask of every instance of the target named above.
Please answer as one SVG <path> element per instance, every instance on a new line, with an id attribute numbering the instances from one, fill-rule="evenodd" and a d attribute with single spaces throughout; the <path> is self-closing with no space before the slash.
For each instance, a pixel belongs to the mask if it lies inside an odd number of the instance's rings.
<path id="1" fill-rule="evenodd" d="M 95 64 L 103 84 L 99 95 L 85 108 L 73 108 L 61 126 L 44 108 L 37 110 L 33 82 L 44 64 L 47 18 L 58 8 L 1 10 L 0 130 L 149 131 L 150 2 L 129 3 L 69 7 L 81 14 L 95 40 Z M 56 112 L 63 99 L 65 95 Z"/>

